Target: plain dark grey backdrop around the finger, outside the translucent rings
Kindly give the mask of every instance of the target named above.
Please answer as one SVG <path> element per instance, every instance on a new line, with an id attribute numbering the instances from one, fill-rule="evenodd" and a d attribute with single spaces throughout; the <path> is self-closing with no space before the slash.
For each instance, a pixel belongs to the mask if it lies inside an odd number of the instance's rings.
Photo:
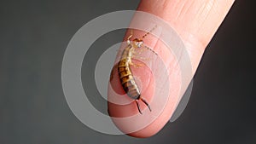
<path id="1" fill-rule="evenodd" d="M 148 139 L 104 135 L 75 118 L 61 89 L 61 60 L 67 43 L 96 16 L 136 9 L 137 3 L 1 1 L 0 144 L 256 143 L 253 1 L 233 5 L 207 46 L 188 107 L 157 135 Z M 119 41 L 124 32 L 110 33 L 105 41 Z M 106 108 L 105 101 L 96 107 Z"/>

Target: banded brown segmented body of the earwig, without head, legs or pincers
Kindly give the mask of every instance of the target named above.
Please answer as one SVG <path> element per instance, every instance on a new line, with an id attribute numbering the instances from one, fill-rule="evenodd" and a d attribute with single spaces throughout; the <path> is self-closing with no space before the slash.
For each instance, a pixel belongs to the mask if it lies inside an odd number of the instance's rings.
<path id="1" fill-rule="evenodd" d="M 140 97 L 140 91 L 137 87 L 137 84 L 132 76 L 131 68 L 129 61 L 131 60 L 131 57 L 129 56 L 129 53 L 131 49 L 125 49 L 123 52 L 123 55 L 121 56 L 121 60 L 118 64 L 118 72 L 119 72 L 119 79 L 123 86 L 123 89 L 125 90 L 125 93 L 131 97 L 131 99 L 137 100 Z"/>

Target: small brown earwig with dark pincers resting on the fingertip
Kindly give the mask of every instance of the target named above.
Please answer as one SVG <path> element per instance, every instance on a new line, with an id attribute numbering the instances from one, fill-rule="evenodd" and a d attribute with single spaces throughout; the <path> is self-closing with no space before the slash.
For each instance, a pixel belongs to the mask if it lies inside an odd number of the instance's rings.
<path id="1" fill-rule="evenodd" d="M 138 88 L 137 83 L 133 77 L 133 74 L 131 72 L 131 65 L 133 65 L 131 58 L 133 56 L 134 50 L 139 49 L 143 46 L 143 38 L 146 37 L 150 32 L 152 32 L 154 28 L 151 29 L 149 32 L 147 32 L 142 38 L 135 38 L 132 41 L 130 40 L 130 38 L 132 37 L 132 32 L 131 32 L 130 37 L 128 37 L 126 41 L 127 46 L 123 50 L 121 54 L 121 58 L 118 63 L 119 80 L 122 84 L 122 87 L 125 90 L 125 93 L 131 99 L 136 101 L 137 109 L 141 114 L 143 114 L 143 112 L 141 111 L 138 101 L 143 101 L 143 103 L 148 107 L 150 112 L 151 112 L 151 108 L 148 102 L 145 99 L 143 99 L 141 95 L 141 91 Z M 146 48 L 149 49 L 148 47 Z M 152 49 L 149 49 L 149 50 L 153 51 Z M 154 52 L 154 54 L 156 53 Z"/>

